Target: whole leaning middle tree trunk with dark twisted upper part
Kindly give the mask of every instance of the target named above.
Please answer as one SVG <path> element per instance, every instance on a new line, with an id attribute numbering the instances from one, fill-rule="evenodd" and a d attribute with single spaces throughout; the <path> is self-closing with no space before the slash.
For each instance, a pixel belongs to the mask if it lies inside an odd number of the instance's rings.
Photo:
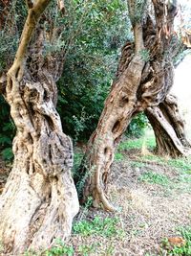
<path id="1" fill-rule="evenodd" d="M 142 1 L 142 7 L 145 2 Z M 135 43 L 127 42 L 122 49 L 117 79 L 89 140 L 79 176 L 75 177 L 77 184 L 81 176 L 85 180 L 82 202 L 92 196 L 94 206 L 102 204 L 106 210 L 114 210 L 105 192 L 121 135 L 135 114 L 163 102 L 173 84 L 171 54 L 175 47 L 173 22 L 177 7 L 162 0 L 152 3 L 152 13 L 146 13 L 142 7 L 138 10 L 137 1 L 128 1 Z"/>

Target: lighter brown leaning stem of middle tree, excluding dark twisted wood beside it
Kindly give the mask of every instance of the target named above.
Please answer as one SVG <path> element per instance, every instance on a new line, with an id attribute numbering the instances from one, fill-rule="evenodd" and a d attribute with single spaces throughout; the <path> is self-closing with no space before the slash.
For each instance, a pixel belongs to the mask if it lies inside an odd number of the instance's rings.
<path id="1" fill-rule="evenodd" d="M 133 6 L 133 8 L 135 7 Z M 144 49 L 141 23 L 135 22 L 133 28 L 136 41 L 135 56 L 128 59 L 129 61 L 121 62 L 120 75 L 114 81 L 111 92 L 105 101 L 96 131 L 89 140 L 83 168 L 80 172 L 80 175 L 85 175 L 82 200 L 92 196 L 95 207 L 102 204 L 104 209 L 109 211 L 115 209 L 104 193 L 110 166 L 114 160 L 115 148 L 120 136 L 126 130 L 135 110 L 138 86 L 145 64 L 140 56 L 140 51 Z M 126 45 L 123 55 L 126 54 L 128 47 L 131 48 L 131 44 Z M 123 55 L 121 59 L 123 59 Z M 76 183 L 78 180 L 79 178 L 75 177 Z M 78 185 L 80 182 L 81 177 Z"/>

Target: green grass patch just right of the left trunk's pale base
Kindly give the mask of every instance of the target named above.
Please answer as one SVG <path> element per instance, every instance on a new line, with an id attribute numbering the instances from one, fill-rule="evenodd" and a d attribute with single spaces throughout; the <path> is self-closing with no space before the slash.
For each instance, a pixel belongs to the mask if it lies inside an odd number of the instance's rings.
<path id="1" fill-rule="evenodd" d="M 96 217 L 93 221 L 77 221 L 74 223 L 73 232 L 81 236 L 120 237 L 124 235 L 124 231 L 118 227 L 118 222 L 118 218 L 101 219 L 100 217 Z"/>

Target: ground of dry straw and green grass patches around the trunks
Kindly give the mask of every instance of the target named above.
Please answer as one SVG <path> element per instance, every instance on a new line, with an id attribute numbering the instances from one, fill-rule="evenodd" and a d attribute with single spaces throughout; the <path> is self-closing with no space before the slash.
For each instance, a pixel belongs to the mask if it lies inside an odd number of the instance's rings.
<path id="1" fill-rule="evenodd" d="M 191 255 L 191 158 L 156 156 L 154 145 L 152 134 L 120 143 L 108 187 L 116 213 L 90 207 L 90 198 L 67 244 L 26 255 Z"/>

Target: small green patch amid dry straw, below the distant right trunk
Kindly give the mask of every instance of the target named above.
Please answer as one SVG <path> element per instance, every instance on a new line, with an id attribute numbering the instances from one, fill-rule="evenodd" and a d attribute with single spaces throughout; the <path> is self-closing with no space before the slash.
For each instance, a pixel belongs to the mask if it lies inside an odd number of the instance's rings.
<path id="1" fill-rule="evenodd" d="M 165 186 L 169 183 L 169 178 L 166 175 L 159 175 L 153 172 L 146 172 L 139 177 L 140 181 L 151 184 L 159 184 Z"/>

